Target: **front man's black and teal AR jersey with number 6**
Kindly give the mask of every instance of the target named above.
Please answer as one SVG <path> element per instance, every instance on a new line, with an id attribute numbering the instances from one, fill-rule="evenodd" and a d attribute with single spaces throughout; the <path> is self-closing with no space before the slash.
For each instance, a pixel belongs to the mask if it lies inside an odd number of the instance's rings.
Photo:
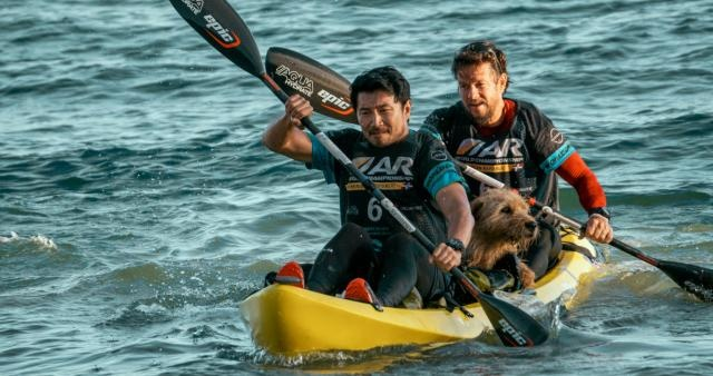
<path id="1" fill-rule="evenodd" d="M 410 131 L 403 141 L 378 148 L 355 129 L 326 135 L 429 239 L 434 244 L 446 239 L 446 220 L 434 204 L 436 195 L 453 182 L 467 186 L 439 139 Z M 311 138 L 312 164 L 307 167 L 322 170 L 326 182 L 339 186 L 342 224 L 364 227 L 377 248 L 390 235 L 402 231 L 362 184 L 314 136 Z"/>

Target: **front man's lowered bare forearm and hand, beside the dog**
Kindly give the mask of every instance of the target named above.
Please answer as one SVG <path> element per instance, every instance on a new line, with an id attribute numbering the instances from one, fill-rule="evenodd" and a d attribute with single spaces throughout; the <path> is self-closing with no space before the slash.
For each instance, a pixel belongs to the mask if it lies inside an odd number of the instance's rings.
<path id="1" fill-rule="evenodd" d="M 475 219 L 470 212 L 470 202 L 468 202 L 463 186 L 459 182 L 452 182 L 441 188 L 436 194 L 436 201 L 448 224 L 448 239 L 460 240 L 467 247 Z M 442 270 L 450 270 L 460 265 L 462 250 L 456 250 L 441 243 L 433 250 L 433 263 Z"/>

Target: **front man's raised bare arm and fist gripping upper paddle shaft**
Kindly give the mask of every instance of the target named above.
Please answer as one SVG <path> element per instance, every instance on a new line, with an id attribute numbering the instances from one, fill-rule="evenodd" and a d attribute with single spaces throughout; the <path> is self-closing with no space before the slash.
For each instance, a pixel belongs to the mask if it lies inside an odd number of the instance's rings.
<path id="1" fill-rule="evenodd" d="M 303 162 L 312 161 L 312 140 L 301 129 L 300 119 L 312 115 L 312 106 L 294 95 L 285 102 L 285 113 L 263 133 L 270 150 Z"/>

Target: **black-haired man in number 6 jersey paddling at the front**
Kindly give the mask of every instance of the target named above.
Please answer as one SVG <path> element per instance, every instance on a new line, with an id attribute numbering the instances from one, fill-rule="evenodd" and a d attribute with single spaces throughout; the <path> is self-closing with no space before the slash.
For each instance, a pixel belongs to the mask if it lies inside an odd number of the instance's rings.
<path id="1" fill-rule="evenodd" d="M 438 246 L 429 256 L 314 136 L 300 129 L 300 119 L 310 116 L 312 107 L 293 96 L 263 142 L 339 186 L 343 225 L 318 255 L 306 288 L 330 295 L 344 290 L 345 298 L 385 306 L 399 305 L 414 287 L 423 301 L 434 299 L 448 286 L 445 271 L 460 265 L 470 239 L 473 219 L 465 180 L 442 142 L 409 130 L 410 86 L 398 70 L 382 67 L 360 75 L 352 82 L 351 100 L 361 131 L 342 129 L 328 136 Z M 296 263 L 285 265 L 281 277 L 295 277 L 295 285 L 304 286 Z"/>

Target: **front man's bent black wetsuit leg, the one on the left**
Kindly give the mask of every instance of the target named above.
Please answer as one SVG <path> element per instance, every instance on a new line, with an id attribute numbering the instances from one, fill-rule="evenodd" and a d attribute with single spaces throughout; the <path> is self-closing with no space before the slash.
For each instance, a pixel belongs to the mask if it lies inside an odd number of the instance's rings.
<path id="1" fill-rule="evenodd" d="M 361 226 L 348 222 L 318 255 L 306 288 L 329 295 L 341 293 L 353 278 L 367 278 L 373 264 L 369 234 Z"/>

